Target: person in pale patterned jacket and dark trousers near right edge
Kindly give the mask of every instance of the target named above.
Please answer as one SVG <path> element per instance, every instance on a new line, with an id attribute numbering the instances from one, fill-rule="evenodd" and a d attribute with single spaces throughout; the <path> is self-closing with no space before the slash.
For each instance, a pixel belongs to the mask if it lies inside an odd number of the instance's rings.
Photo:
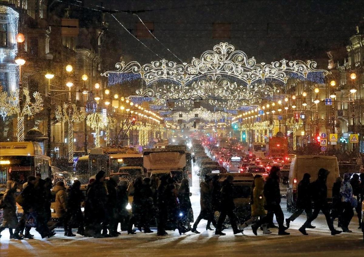
<path id="1" fill-rule="evenodd" d="M 343 205 L 343 221 L 341 224 L 341 228 L 343 229 L 343 232 L 351 233 L 352 231 L 349 230 L 348 226 L 351 221 L 351 219 L 354 216 L 353 207 L 351 204 L 351 201 L 353 199 L 353 188 L 350 184 L 350 173 L 344 174 L 344 179 L 341 182 L 340 187 L 340 195 L 341 195 L 341 204 Z"/>

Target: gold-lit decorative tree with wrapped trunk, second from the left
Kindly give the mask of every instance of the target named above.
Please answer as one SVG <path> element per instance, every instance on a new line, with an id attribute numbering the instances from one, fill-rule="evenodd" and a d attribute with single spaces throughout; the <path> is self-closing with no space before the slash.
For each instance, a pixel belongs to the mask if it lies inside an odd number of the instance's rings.
<path id="1" fill-rule="evenodd" d="M 68 162 L 73 162 L 74 151 L 74 128 L 73 123 L 80 123 L 86 118 L 84 107 L 78 107 L 75 104 L 64 103 L 63 106 L 57 106 L 55 116 L 58 121 L 68 123 Z"/>

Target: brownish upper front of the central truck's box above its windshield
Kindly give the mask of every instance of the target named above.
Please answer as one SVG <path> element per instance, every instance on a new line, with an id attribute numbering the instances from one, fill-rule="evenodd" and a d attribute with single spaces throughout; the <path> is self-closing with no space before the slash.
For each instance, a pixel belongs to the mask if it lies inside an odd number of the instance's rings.
<path id="1" fill-rule="evenodd" d="M 186 167 L 186 154 L 180 152 L 151 152 L 144 155 L 147 170 L 177 170 Z"/>

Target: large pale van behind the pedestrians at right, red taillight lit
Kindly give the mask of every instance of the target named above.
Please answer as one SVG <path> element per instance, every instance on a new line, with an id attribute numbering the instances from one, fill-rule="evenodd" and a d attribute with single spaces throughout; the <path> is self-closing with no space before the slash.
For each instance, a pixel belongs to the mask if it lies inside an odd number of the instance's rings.
<path id="1" fill-rule="evenodd" d="M 291 162 L 287 189 L 287 211 L 293 212 L 296 208 L 297 187 L 305 173 L 311 175 L 311 183 L 317 179 L 318 170 L 324 168 L 330 173 L 327 177 L 327 198 L 332 201 L 332 187 L 340 176 L 339 166 L 335 156 L 302 155 L 296 156 Z M 313 196 L 314 197 L 314 196 Z"/>

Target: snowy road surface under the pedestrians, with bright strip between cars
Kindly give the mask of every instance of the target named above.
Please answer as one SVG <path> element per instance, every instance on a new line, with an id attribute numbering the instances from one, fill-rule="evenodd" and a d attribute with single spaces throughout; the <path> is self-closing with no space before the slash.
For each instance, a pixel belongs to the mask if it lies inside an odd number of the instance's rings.
<path id="1" fill-rule="evenodd" d="M 194 174 L 191 197 L 195 218 L 199 206 L 198 177 Z M 282 201 L 282 209 L 285 218 L 290 213 L 285 211 L 285 200 Z M 287 232 L 289 236 L 278 236 L 277 229 L 271 229 L 270 235 L 263 235 L 258 230 L 258 236 L 254 236 L 252 230 L 247 228 L 244 235 L 233 235 L 232 229 L 227 229 L 226 236 L 215 236 L 214 231 L 205 231 L 206 221 L 202 220 L 198 226 L 201 234 L 188 232 L 179 236 L 175 232 L 168 231 L 167 236 L 159 237 L 156 233 L 128 235 L 122 232 L 114 238 L 86 238 L 63 236 L 62 229 L 57 229 L 57 234 L 48 239 L 41 239 L 35 234 L 33 240 L 9 240 L 8 231 L 1 233 L 0 256 L 37 256 L 37 257 L 93 257 L 93 256 L 364 256 L 363 235 L 357 229 L 357 217 L 353 217 L 350 229 L 353 233 L 341 233 L 331 236 L 322 214 L 313 221 L 316 229 L 307 229 L 309 236 L 302 235 L 297 229 L 305 221 L 305 215 L 301 215 L 291 222 Z M 335 225 L 337 225 L 335 223 Z M 152 228 L 156 231 L 156 228 Z"/>

